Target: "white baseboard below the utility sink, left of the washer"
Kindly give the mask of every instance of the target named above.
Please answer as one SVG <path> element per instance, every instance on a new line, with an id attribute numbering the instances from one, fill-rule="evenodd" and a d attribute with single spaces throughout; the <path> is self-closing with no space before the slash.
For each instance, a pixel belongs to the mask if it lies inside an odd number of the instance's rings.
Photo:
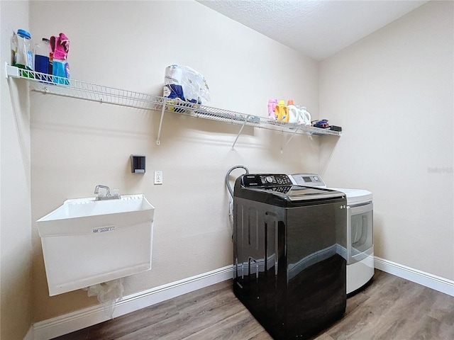
<path id="1" fill-rule="evenodd" d="M 120 317 L 121 315 L 231 278 L 233 278 L 232 265 L 128 295 L 116 303 L 114 317 Z M 106 316 L 106 312 L 104 312 L 104 308 L 101 305 L 87 307 L 82 310 L 53 317 L 52 319 L 36 322 L 32 325 L 31 330 L 28 331 L 24 340 L 50 340 L 57 336 L 71 333 L 72 331 L 99 324 L 108 319 L 110 317 Z"/>

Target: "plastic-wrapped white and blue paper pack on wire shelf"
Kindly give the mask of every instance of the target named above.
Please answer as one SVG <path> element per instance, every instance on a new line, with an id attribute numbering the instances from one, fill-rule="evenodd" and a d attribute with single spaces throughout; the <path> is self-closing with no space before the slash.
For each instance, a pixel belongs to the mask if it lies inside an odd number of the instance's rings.
<path id="1" fill-rule="evenodd" d="M 202 104 L 210 101 L 210 90 L 199 72 L 183 65 L 170 65 L 165 68 L 164 96 Z"/>

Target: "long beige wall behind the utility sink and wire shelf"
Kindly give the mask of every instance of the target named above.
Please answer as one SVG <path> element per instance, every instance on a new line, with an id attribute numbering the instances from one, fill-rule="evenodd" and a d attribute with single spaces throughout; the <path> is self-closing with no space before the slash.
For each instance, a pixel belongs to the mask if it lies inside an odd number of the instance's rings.
<path id="1" fill-rule="evenodd" d="M 64 32 L 71 77 L 162 94 L 164 70 L 178 63 L 204 74 L 210 106 L 267 115 L 268 98 L 292 98 L 318 116 L 318 64 L 195 1 L 32 1 L 35 37 Z M 65 13 L 65 15 L 62 15 Z M 52 20 L 42 20 L 52 17 Z M 82 24 L 82 18 L 84 23 Z M 233 261 L 228 193 L 231 166 L 250 171 L 318 171 L 319 138 L 245 128 L 69 98 L 31 94 L 32 219 L 96 184 L 145 193 L 155 205 L 153 268 L 126 278 L 125 294 L 227 266 Z M 147 173 L 131 174 L 130 154 Z M 164 183 L 153 185 L 153 171 Z M 234 172 L 236 176 L 240 171 Z M 233 181 L 233 176 L 232 176 Z M 77 268 L 74 268 L 77 270 Z M 40 238 L 33 227 L 34 321 L 97 303 L 86 292 L 48 297 Z"/>

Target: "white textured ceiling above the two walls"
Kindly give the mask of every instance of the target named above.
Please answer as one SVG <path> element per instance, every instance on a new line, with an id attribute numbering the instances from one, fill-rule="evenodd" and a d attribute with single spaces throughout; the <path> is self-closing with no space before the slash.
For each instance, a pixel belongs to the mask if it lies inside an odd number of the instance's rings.
<path id="1" fill-rule="evenodd" d="M 197 0 L 315 60 L 323 60 L 428 1 Z"/>

